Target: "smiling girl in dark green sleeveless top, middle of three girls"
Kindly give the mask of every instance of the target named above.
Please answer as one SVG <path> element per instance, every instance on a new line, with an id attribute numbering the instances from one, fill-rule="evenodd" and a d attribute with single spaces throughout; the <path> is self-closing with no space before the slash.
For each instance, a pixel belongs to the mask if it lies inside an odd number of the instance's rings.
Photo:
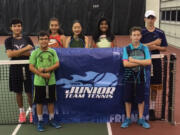
<path id="1" fill-rule="evenodd" d="M 75 20 L 72 24 L 72 35 L 66 40 L 66 48 L 88 48 L 88 37 L 82 32 L 81 23 Z"/>

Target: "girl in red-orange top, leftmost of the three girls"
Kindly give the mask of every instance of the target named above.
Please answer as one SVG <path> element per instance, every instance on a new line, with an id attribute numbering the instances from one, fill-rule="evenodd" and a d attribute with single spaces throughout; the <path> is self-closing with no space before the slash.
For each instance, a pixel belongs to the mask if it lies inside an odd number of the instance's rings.
<path id="1" fill-rule="evenodd" d="M 57 18 L 51 18 L 49 21 L 49 47 L 52 48 L 64 48 L 66 38 L 63 34 L 63 30 L 60 27 L 59 20 Z"/>

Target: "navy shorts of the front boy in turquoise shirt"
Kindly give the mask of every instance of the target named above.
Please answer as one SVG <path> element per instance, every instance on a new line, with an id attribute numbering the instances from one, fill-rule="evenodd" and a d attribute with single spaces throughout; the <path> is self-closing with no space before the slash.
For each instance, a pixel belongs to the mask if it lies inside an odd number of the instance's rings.
<path id="1" fill-rule="evenodd" d="M 125 83 L 124 85 L 124 101 L 129 103 L 142 103 L 144 101 L 145 84 Z"/>

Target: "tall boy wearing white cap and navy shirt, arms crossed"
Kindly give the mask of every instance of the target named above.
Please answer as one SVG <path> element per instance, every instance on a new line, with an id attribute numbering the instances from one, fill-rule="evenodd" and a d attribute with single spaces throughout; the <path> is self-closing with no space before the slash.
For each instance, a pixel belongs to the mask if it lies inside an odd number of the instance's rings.
<path id="1" fill-rule="evenodd" d="M 164 32 L 154 26 L 156 14 L 153 10 L 148 10 L 145 13 L 146 27 L 142 29 L 141 43 L 149 47 L 151 54 L 160 54 L 166 51 L 168 46 Z M 152 59 L 151 66 L 151 103 L 149 120 L 155 120 L 155 104 L 157 90 L 162 89 L 162 65 L 161 59 Z"/>

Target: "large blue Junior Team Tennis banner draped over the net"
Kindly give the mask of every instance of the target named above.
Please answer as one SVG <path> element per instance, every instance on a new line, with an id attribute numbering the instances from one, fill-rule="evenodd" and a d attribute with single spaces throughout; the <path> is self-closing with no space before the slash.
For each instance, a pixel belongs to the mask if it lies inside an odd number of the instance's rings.
<path id="1" fill-rule="evenodd" d="M 122 50 L 122 48 L 56 49 L 60 60 L 60 68 L 56 71 L 57 120 L 63 123 L 124 120 Z M 150 69 L 149 67 L 146 69 L 144 118 L 147 120 Z M 133 106 L 132 120 L 136 121 L 137 105 Z M 48 119 L 46 106 L 44 108 L 44 118 Z M 36 121 L 37 117 L 34 118 Z"/>

